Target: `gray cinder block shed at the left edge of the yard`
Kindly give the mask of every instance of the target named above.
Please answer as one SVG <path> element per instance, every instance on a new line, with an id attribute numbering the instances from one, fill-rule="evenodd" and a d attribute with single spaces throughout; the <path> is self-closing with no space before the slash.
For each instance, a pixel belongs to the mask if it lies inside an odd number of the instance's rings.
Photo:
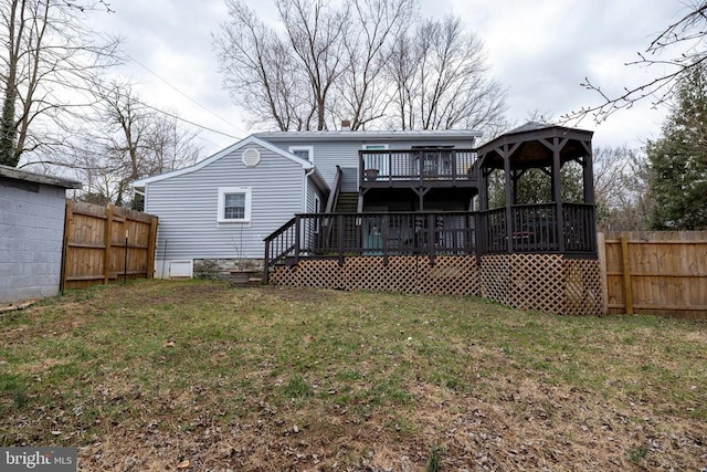
<path id="1" fill-rule="evenodd" d="M 0 166 L 0 303 L 59 294 L 65 193 L 80 188 Z"/>

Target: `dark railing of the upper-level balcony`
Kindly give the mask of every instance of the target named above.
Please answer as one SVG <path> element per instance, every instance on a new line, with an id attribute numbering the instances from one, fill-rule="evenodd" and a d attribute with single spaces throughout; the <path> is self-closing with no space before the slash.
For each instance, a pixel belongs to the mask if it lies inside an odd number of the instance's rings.
<path id="1" fill-rule="evenodd" d="M 363 186 L 476 179 L 473 149 L 361 150 L 359 156 L 359 181 Z"/>

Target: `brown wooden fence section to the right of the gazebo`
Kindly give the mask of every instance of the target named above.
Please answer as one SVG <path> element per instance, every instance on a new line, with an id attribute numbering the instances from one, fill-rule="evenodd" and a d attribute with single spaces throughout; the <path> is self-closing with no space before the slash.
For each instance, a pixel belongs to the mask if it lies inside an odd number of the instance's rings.
<path id="1" fill-rule="evenodd" d="M 599 235 L 605 312 L 707 319 L 707 231 Z"/>

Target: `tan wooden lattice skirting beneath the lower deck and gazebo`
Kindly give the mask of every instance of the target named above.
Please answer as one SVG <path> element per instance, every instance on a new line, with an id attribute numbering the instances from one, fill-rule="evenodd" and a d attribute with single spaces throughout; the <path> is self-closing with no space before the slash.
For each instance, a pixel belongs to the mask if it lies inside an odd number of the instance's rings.
<path id="1" fill-rule="evenodd" d="M 556 254 L 489 254 L 476 264 L 473 255 L 350 256 L 303 259 L 295 266 L 277 266 L 275 285 L 402 293 L 477 295 L 519 310 L 564 315 L 601 315 L 598 260 Z"/>

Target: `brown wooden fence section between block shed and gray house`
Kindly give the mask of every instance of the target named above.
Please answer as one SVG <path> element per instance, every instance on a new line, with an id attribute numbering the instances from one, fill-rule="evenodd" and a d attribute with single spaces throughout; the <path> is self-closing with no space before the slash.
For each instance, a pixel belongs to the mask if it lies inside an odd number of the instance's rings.
<path id="1" fill-rule="evenodd" d="M 151 279 L 157 217 L 66 200 L 61 289 Z"/>

